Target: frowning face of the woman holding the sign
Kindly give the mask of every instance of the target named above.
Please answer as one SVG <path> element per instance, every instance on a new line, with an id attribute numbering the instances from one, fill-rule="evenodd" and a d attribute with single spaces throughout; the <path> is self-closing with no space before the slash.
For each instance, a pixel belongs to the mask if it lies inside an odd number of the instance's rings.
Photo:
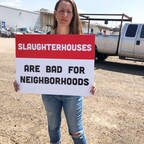
<path id="1" fill-rule="evenodd" d="M 61 1 L 54 15 L 57 19 L 58 26 L 69 26 L 73 17 L 71 3 Z"/>

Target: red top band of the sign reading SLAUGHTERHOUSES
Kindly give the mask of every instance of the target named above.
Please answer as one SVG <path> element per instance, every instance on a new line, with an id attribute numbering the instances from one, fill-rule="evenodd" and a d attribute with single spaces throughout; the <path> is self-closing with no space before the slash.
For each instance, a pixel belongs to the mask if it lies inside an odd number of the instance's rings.
<path id="1" fill-rule="evenodd" d="M 95 35 L 17 35 L 17 58 L 94 59 Z"/>

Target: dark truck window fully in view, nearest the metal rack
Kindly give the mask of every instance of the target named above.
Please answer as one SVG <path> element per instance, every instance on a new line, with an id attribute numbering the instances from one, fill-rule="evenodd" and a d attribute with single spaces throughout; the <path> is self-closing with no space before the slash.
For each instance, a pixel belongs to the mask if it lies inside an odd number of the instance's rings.
<path id="1" fill-rule="evenodd" d="M 130 24 L 126 31 L 126 37 L 135 37 L 138 25 Z"/>

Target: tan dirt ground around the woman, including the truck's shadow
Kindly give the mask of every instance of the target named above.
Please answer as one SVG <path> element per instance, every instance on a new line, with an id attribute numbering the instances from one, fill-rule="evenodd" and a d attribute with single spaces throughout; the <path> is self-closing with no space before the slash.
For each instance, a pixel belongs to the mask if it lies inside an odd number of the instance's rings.
<path id="1" fill-rule="evenodd" d="M 144 144 L 144 62 L 110 57 L 94 69 L 96 95 L 84 98 L 88 144 Z M 20 94 L 14 39 L 0 38 L 0 144 L 48 144 L 40 95 Z M 62 144 L 72 144 L 62 114 Z"/>

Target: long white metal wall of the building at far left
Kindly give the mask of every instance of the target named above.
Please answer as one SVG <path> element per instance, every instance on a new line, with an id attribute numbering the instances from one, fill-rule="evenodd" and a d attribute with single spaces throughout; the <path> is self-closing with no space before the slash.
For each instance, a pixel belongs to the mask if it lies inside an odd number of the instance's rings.
<path id="1" fill-rule="evenodd" d="M 26 27 L 34 29 L 40 27 L 40 15 L 36 12 L 29 12 L 21 9 L 10 8 L 0 5 L 0 21 L 4 21 L 6 27 Z"/>

